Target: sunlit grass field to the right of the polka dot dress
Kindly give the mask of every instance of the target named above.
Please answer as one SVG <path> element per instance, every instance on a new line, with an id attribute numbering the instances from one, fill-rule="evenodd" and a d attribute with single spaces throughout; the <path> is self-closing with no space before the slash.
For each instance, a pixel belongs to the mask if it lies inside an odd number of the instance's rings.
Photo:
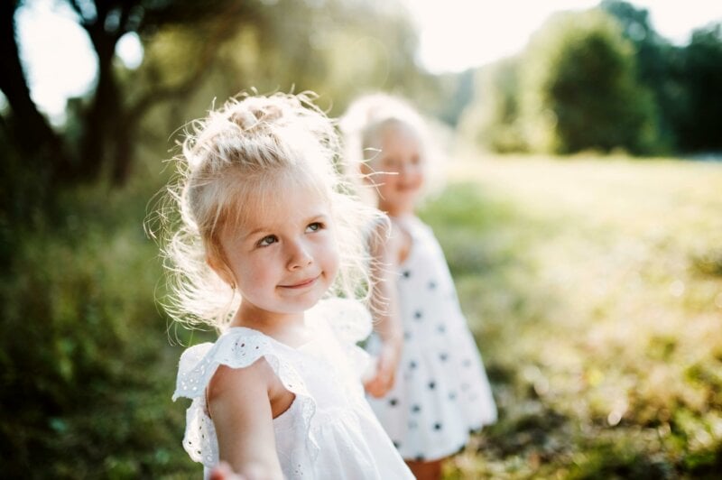
<path id="1" fill-rule="evenodd" d="M 500 420 L 446 478 L 722 471 L 722 163 L 474 159 L 422 211 Z"/>

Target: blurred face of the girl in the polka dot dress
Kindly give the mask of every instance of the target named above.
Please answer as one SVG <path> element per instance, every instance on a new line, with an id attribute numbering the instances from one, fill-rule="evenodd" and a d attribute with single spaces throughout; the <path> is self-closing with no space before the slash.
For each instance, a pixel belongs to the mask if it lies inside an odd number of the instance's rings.
<path id="1" fill-rule="evenodd" d="M 379 134 L 381 150 L 370 167 L 378 192 L 378 208 L 391 216 L 412 213 L 424 180 L 419 138 L 411 127 L 388 125 Z"/>

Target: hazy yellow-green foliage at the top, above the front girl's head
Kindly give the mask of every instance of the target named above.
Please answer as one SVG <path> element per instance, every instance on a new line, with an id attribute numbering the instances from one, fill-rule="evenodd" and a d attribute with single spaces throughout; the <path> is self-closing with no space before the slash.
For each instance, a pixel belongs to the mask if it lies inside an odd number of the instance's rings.
<path id="1" fill-rule="evenodd" d="M 159 30 L 144 42 L 143 65 L 127 88 L 140 95 L 153 82 L 184 85 L 201 64 L 203 77 L 175 106 L 181 119 L 251 88 L 313 90 L 330 115 L 369 90 L 433 92 L 435 82 L 413 61 L 417 34 L 397 2 L 283 0 L 257 14 L 257 22 L 236 26 L 212 51 L 207 32 L 194 25 Z"/>

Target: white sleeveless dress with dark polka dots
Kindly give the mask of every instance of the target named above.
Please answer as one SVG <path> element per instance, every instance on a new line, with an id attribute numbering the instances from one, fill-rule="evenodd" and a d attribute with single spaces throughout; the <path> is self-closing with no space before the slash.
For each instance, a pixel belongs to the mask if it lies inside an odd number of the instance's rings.
<path id="1" fill-rule="evenodd" d="M 409 233 L 397 282 L 402 359 L 392 390 L 368 399 L 402 457 L 430 461 L 457 453 L 469 431 L 494 423 L 496 407 L 439 242 L 416 218 Z M 368 350 L 378 347 L 372 337 Z"/>

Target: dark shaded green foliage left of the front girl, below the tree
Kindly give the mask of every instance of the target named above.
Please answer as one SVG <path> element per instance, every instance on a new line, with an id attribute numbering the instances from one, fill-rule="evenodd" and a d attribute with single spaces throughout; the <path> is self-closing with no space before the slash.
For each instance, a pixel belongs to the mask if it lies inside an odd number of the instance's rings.
<path id="1" fill-rule="evenodd" d="M 5 475 L 190 472 L 170 402 L 177 357 L 153 299 L 157 248 L 143 232 L 148 187 L 66 190 L 59 217 L 14 229 L 0 278 Z"/>

